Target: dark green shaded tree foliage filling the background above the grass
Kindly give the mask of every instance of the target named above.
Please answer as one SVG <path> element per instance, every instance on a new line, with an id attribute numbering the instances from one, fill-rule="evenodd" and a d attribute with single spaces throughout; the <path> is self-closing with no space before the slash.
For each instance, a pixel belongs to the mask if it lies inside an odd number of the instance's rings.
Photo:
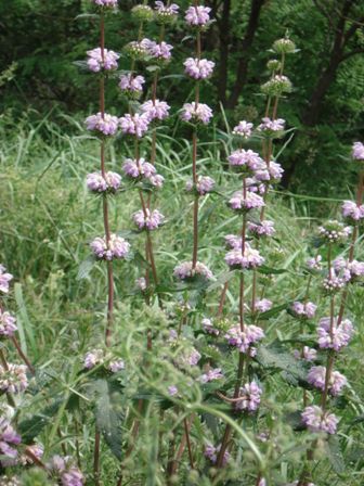
<path id="1" fill-rule="evenodd" d="M 130 8 L 120 2 L 121 15 L 110 21 L 108 47 L 120 51 L 136 36 Z M 187 0 L 178 1 L 183 11 Z M 268 76 L 265 63 L 272 42 L 287 33 L 300 52 L 288 60 L 287 73 L 296 87 L 281 116 L 297 128 L 285 151 L 284 183 L 304 187 L 307 174 L 317 179 L 317 191 L 342 178 L 334 153 L 360 139 L 363 129 L 364 2 L 363 0 L 206 0 L 214 24 L 204 50 L 217 63 L 208 91 L 214 106 L 222 103 L 230 119 L 258 122 L 259 85 Z M 152 4 L 152 2 L 151 2 Z M 93 85 L 84 90 L 84 74 L 74 65 L 84 59 L 90 38 L 98 46 L 95 20 L 88 0 L 12 0 L 0 2 L 0 94 L 2 110 L 13 113 L 32 107 L 42 115 L 60 106 L 67 113 L 84 111 L 95 99 Z M 147 35 L 153 37 L 154 26 Z M 191 85 L 182 78 L 183 60 L 191 52 L 182 18 L 176 26 L 173 61 L 166 97 L 179 107 Z M 121 68 L 127 68 L 128 64 Z M 115 84 L 116 85 L 116 84 Z M 90 92 L 91 91 L 91 92 Z M 110 103 L 121 110 L 117 89 Z M 255 107 L 253 107 L 255 106 Z M 258 110 L 257 110 L 258 106 Z M 54 113 L 57 113 L 55 111 Z M 219 119 L 219 118 L 218 118 Z M 320 181 L 320 183 L 318 183 Z M 307 184 L 312 191 L 312 183 Z M 332 189 L 332 188 L 330 188 Z"/>

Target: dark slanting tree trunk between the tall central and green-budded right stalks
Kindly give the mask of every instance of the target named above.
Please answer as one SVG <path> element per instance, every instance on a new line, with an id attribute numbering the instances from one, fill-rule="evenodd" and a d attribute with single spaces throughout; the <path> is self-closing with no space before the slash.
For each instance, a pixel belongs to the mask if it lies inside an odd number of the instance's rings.
<path id="1" fill-rule="evenodd" d="M 236 81 L 232 89 L 231 95 L 227 101 L 227 107 L 234 108 L 237 104 L 238 97 L 243 91 L 243 88 L 247 80 L 248 75 L 248 65 L 249 65 L 249 51 L 258 28 L 259 17 L 261 8 L 263 7 L 265 0 L 251 0 L 250 15 L 248 21 L 248 26 L 244 39 L 238 46 L 238 49 L 242 52 L 242 56 L 237 64 L 236 69 Z"/>

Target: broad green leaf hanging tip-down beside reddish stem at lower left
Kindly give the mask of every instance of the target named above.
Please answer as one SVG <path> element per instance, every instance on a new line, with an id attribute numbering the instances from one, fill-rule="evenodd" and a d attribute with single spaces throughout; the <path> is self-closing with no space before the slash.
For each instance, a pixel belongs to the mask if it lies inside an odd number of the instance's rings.
<path id="1" fill-rule="evenodd" d="M 120 461 L 121 456 L 121 425 L 123 411 L 121 408 L 121 394 L 115 383 L 106 380 L 96 380 L 95 418 L 99 431 L 102 433 L 110 451 Z"/>

